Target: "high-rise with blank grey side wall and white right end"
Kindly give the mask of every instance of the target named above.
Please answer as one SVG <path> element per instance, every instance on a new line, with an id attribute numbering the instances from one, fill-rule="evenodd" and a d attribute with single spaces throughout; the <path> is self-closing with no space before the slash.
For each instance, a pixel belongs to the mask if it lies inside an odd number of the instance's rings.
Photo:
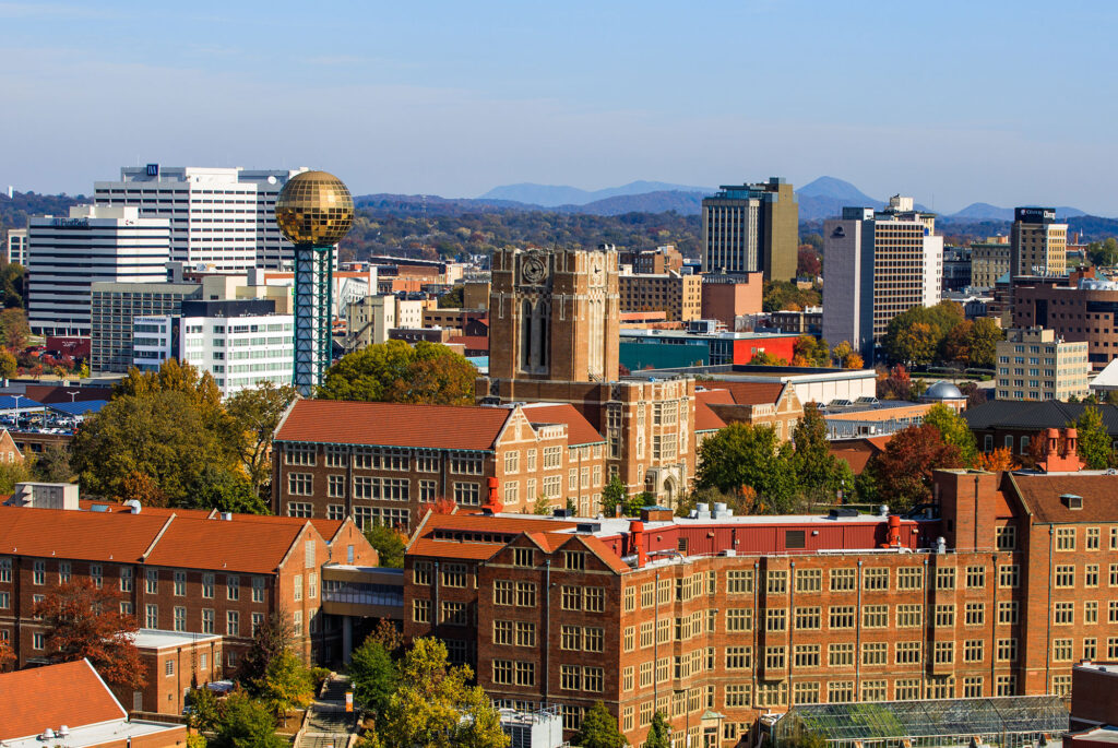
<path id="1" fill-rule="evenodd" d="M 944 237 L 936 217 L 894 196 L 883 210 L 843 208 L 823 226 L 823 337 L 846 341 L 869 363 L 889 322 L 942 300 Z"/>

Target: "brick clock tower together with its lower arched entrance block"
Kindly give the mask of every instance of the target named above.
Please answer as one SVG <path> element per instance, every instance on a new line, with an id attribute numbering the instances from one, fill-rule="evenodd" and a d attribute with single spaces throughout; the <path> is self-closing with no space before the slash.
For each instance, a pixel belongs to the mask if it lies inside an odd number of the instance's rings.
<path id="1" fill-rule="evenodd" d="M 569 403 L 601 434 L 609 474 L 673 505 L 694 473 L 694 379 L 619 377 L 614 249 L 498 249 L 484 404 Z"/>

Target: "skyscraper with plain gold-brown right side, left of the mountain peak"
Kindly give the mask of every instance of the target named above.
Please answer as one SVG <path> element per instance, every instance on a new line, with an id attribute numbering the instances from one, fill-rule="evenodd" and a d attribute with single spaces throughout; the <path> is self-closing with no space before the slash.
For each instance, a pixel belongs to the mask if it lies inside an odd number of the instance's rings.
<path id="1" fill-rule="evenodd" d="M 703 273 L 796 275 L 799 206 L 792 184 L 773 177 L 758 184 L 726 184 L 702 201 Z"/>

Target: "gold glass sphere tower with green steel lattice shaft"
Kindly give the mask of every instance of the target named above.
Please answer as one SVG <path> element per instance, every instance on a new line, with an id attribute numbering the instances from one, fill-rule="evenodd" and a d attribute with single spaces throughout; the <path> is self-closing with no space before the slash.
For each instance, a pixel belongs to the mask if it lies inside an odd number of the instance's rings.
<path id="1" fill-rule="evenodd" d="M 276 224 L 295 245 L 293 384 L 311 397 L 331 361 L 334 245 L 353 225 L 353 197 L 333 174 L 304 171 L 280 192 Z"/>

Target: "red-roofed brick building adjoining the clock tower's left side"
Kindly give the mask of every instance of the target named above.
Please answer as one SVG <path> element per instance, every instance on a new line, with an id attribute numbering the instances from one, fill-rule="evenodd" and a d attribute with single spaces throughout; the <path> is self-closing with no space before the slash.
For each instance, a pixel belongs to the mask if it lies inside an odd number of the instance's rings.
<path id="1" fill-rule="evenodd" d="M 609 480 L 606 447 L 566 404 L 296 400 L 276 429 L 273 511 L 407 529 L 436 502 L 476 509 L 492 496 L 511 512 L 543 500 L 591 514 Z"/>

